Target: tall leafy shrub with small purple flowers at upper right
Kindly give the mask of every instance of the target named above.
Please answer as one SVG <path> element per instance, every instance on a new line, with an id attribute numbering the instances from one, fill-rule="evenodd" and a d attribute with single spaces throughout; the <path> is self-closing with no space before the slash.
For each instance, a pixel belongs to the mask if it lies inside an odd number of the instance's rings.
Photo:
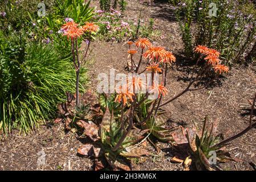
<path id="1" fill-rule="evenodd" d="M 224 64 L 231 66 L 245 61 L 256 36 L 256 9 L 251 1 L 170 2 L 179 20 L 188 57 L 194 56 L 193 47 L 204 45 L 220 50 Z"/>

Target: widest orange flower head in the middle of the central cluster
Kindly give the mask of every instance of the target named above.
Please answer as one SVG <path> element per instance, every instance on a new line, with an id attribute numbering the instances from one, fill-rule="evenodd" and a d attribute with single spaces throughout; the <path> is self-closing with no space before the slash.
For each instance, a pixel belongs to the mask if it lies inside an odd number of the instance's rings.
<path id="1" fill-rule="evenodd" d="M 164 49 L 164 47 L 160 46 L 151 46 L 149 49 L 144 53 L 144 57 L 148 58 L 150 60 L 153 59 L 162 59 L 166 55 L 167 51 Z"/>

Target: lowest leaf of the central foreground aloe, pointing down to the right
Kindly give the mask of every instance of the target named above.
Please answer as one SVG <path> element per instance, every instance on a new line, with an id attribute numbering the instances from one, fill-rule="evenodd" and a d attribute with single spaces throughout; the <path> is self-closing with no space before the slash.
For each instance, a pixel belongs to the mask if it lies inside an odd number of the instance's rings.
<path id="1" fill-rule="evenodd" d="M 123 169 L 124 171 L 131 171 L 131 168 L 128 166 L 127 162 L 125 162 L 124 159 L 119 156 L 105 153 L 105 159 L 107 159 L 108 164 L 114 169 L 119 168 Z"/>

